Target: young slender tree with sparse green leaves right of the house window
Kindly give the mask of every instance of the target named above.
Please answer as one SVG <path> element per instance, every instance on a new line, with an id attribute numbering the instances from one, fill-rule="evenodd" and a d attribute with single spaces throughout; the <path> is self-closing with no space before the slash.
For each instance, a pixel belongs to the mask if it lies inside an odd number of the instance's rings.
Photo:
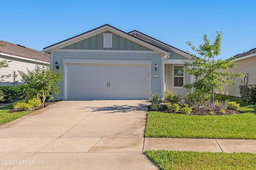
<path id="1" fill-rule="evenodd" d="M 214 90 L 224 91 L 222 84 L 228 86 L 234 85 L 234 79 L 237 76 L 242 77 L 242 73 L 235 72 L 221 72 L 220 70 L 227 70 L 228 68 L 236 68 L 236 65 L 232 63 L 233 59 L 216 60 L 215 57 L 220 54 L 220 40 L 222 32 L 216 31 L 217 36 L 212 45 L 207 35 L 204 34 L 204 44 L 199 45 L 199 48 L 195 48 L 190 41 L 187 42 L 188 46 L 195 51 L 200 57 L 194 54 L 187 53 L 191 56 L 191 63 L 184 62 L 188 68 L 184 71 L 196 78 L 196 81 L 191 84 L 185 84 L 184 87 L 188 89 L 196 88 L 204 92 L 212 93 L 212 102 L 214 101 Z"/>

